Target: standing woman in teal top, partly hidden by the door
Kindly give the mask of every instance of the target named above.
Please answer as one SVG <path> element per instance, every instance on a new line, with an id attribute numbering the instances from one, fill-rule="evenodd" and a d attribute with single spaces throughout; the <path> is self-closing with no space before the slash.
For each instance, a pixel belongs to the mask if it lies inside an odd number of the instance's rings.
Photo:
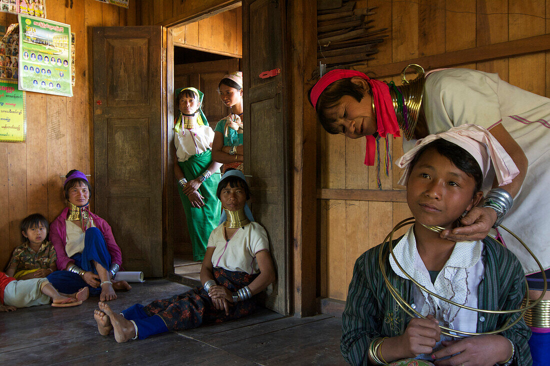
<path id="1" fill-rule="evenodd" d="M 218 91 L 223 104 L 229 107 L 229 115 L 214 130 L 212 158 L 223 163 L 223 173 L 229 168 L 243 171 L 243 73 L 235 71 L 224 76 Z"/>

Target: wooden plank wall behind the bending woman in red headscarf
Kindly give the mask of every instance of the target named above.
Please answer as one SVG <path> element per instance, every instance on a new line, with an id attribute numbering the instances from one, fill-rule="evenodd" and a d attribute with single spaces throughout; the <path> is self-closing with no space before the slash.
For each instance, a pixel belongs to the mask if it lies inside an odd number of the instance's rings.
<path id="1" fill-rule="evenodd" d="M 491 45 L 550 33 L 550 0 L 359 0 L 357 6 L 378 7 L 377 28 L 390 37 L 369 65 L 382 65 Z M 449 65 L 452 66 L 452 65 Z M 491 73 L 513 85 L 550 96 L 550 53 L 461 65 Z M 361 68 L 367 71 L 368 66 Z M 546 70 L 549 70 L 548 72 Z M 393 80 L 398 82 L 398 78 Z M 392 141 L 392 158 L 401 154 L 401 140 Z M 376 190 L 376 168 L 363 164 L 365 140 L 349 140 L 318 129 L 320 188 Z M 382 175 L 382 189 L 395 190 L 399 169 Z M 391 192 L 389 192 L 391 193 Z M 410 216 L 401 202 L 320 199 L 318 238 L 320 295 L 345 300 L 355 259 L 383 240 L 393 225 Z"/>

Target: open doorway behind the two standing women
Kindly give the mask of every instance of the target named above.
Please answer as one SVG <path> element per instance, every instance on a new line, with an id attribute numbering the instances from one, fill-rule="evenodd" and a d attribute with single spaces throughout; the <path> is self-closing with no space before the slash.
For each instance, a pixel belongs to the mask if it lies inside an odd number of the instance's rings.
<path id="1" fill-rule="evenodd" d="M 218 83 L 224 75 L 241 70 L 241 7 L 192 23 L 173 26 L 168 29 L 168 34 L 172 38 L 172 42 L 168 42 L 168 47 L 172 47 L 172 50 L 168 51 L 173 51 L 168 52 L 167 60 L 168 126 L 173 127 L 174 118 L 179 115 L 175 91 L 182 87 L 195 87 L 204 93 L 201 108 L 208 124 L 215 129 L 218 121 L 229 112 L 219 98 Z M 173 157 L 173 133 L 168 135 L 171 136 L 168 156 Z M 169 166 L 173 161 L 173 158 L 169 159 Z M 173 182 L 172 195 L 168 199 L 168 205 L 171 206 L 168 212 L 172 212 L 168 230 L 173 238 L 172 248 L 168 246 L 168 278 L 185 285 L 198 285 L 201 262 L 193 260 L 191 236 L 173 169 L 168 175 L 172 175 Z"/>

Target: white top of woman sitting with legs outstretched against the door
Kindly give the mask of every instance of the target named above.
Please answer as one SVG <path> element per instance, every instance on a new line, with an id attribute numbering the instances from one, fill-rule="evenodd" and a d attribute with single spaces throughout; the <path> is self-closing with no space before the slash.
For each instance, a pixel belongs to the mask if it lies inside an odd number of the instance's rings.
<path id="1" fill-rule="evenodd" d="M 256 253 L 270 249 L 266 230 L 260 224 L 251 222 L 237 229 L 227 241 L 223 232 L 223 224 L 221 224 L 212 230 L 208 238 L 207 248 L 215 248 L 212 254 L 212 265 L 230 271 L 259 273 Z"/>

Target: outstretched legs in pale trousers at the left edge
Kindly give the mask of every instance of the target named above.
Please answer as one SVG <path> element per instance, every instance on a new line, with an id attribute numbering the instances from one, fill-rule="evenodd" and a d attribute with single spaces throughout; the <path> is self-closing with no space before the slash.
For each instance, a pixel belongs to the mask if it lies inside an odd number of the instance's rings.
<path id="1" fill-rule="evenodd" d="M 0 312 L 10 312 L 17 308 L 26 308 L 50 303 L 54 307 L 80 305 L 88 298 L 87 287 L 72 295 L 59 293 L 45 278 L 16 280 L 0 272 Z"/>

